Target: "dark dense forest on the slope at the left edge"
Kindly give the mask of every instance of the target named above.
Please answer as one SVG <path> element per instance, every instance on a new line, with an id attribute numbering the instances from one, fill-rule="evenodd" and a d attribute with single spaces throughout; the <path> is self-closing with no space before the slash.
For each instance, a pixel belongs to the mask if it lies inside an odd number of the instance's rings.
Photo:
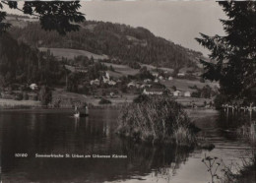
<path id="1" fill-rule="evenodd" d="M 9 33 L 0 36 L 0 86 L 15 83 L 58 85 L 65 82 L 65 72 L 49 52 L 39 52 L 18 42 Z"/>

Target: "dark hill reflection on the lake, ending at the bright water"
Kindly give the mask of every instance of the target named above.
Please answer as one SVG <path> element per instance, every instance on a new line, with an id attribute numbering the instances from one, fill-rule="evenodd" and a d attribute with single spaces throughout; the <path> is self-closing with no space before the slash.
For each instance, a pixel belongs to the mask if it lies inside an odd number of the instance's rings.
<path id="1" fill-rule="evenodd" d="M 69 111 L 1 112 L 3 182 L 139 181 L 147 175 L 155 181 L 170 180 L 192 152 L 122 140 L 114 133 L 116 117 L 110 109 L 94 110 L 80 119 Z M 29 157 L 14 157 L 17 152 L 27 152 Z M 127 158 L 35 158 L 35 153 L 124 154 Z"/>

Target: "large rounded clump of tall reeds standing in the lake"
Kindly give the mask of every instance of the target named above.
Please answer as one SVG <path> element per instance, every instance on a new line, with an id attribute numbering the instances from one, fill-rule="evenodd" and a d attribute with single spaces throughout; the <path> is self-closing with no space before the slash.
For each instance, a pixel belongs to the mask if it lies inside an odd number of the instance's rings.
<path id="1" fill-rule="evenodd" d="M 196 127 L 180 104 L 163 95 L 122 106 L 117 133 L 134 141 L 191 146 Z"/>

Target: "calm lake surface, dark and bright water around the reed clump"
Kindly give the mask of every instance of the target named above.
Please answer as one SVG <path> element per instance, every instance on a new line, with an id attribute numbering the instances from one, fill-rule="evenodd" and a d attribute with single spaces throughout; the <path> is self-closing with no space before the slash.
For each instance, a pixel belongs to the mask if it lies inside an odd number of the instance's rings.
<path id="1" fill-rule="evenodd" d="M 92 109 L 76 119 L 71 110 L 0 110 L 1 170 L 6 182 L 173 182 L 211 180 L 202 158 L 241 163 L 246 140 L 237 138 L 236 118 L 214 110 L 188 110 L 195 124 L 216 148 L 209 152 L 180 147 L 135 145 L 115 135 L 118 110 Z M 15 157 L 28 153 L 28 157 Z M 127 155 L 127 158 L 46 158 L 39 154 Z"/>

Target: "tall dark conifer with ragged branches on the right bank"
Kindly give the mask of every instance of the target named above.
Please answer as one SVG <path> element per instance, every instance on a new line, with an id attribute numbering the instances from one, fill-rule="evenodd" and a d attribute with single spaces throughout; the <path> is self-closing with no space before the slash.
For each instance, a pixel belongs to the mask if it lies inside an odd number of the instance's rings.
<path id="1" fill-rule="evenodd" d="M 228 20 L 221 20 L 225 35 L 201 33 L 196 40 L 211 51 L 214 62 L 201 60 L 203 77 L 219 81 L 227 100 L 256 103 L 256 2 L 219 2 Z"/>

